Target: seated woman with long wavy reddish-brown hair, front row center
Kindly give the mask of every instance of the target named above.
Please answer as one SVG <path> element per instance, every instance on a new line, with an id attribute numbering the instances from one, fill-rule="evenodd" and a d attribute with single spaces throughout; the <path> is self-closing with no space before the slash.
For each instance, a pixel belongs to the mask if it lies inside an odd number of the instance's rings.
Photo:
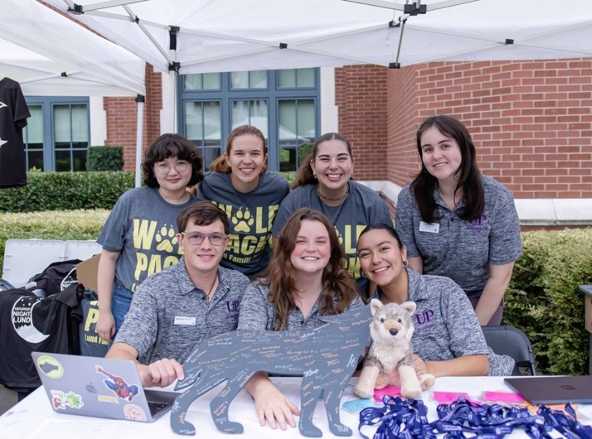
<path id="1" fill-rule="evenodd" d="M 314 329 L 320 315 L 363 306 L 353 278 L 341 266 L 343 251 L 329 218 L 298 209 L 283 225 L 267 278 L 251 283 L 240 306 L 238 329 Z M 246 385 L 255 399 L 259 422 L 272 428 L 295 426 L 299 410 L 258 373 Z M 277 423 L 277 424 L 276 424 Z"/>

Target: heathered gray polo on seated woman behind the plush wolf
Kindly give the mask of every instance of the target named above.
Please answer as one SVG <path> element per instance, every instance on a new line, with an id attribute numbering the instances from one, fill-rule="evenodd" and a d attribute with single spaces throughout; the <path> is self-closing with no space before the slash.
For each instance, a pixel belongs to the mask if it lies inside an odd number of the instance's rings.
<path id="1" fill-rule="evenodd" d="M 471 302 L 449 278 L 407 269 L 407 300 L 415 302 L 413 352 L 424 361 L 489 355 L 489 375 L 512 375 L 514 360 L 489 349 Z M 380 291 L 378 290 L 380 298 Z"/>

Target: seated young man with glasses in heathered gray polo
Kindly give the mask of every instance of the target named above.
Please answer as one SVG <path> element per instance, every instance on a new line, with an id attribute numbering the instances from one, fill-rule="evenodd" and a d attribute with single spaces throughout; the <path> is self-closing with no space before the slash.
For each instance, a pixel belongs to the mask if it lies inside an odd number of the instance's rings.
<path id="1" fill-rule="evenodd" d="M 183 379 L 181 365 L 196 345 L 236 329 L 249 278 L 219 266 L 228 228 L 228 216 L 212 202 L 192 204 L 177 218 L 184 256 L 135 290 L 106 356 L 138 362 L 152 349 L 150 364 L 137 364 L 145 387 Z"/>

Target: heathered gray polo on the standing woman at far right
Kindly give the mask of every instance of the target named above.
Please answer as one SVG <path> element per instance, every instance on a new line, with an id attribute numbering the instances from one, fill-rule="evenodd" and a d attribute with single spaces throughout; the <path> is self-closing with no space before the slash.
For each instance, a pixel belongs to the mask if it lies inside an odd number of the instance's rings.
<path id="1" fill-rule="evenodd" d="M 510 191 L 490 177 L 481 176 L 485 208 L 481 218 L 466 221 L 451 211 L 436 189 L 436 216 L 422 221 L 408 184 L 399 193 L 395 224 L 411 258 L 420 256 L 423 273 L 447 276 L 463 290 L 481 290 L 489 278 L 489 264 L 504 265 L 522 254 L 520 223 Z"/>

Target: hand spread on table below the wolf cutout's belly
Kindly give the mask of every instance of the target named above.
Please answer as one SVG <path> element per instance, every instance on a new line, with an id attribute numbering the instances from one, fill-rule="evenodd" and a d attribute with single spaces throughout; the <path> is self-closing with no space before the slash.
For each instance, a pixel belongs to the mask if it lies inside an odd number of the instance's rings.
<path id="1" fill-rule="evenodd" d="M 256 373 L 244 388 L 255 400 L 261 426 L 265 425 L 265 419 L 272 429 L 276 429 L 279 424 L 280 429 L 286 430 L 286 422 L 291 427 L 296 426 L 292 415 L 299 416 L 300 410 L 267 378 L 267 373 Z"/>

